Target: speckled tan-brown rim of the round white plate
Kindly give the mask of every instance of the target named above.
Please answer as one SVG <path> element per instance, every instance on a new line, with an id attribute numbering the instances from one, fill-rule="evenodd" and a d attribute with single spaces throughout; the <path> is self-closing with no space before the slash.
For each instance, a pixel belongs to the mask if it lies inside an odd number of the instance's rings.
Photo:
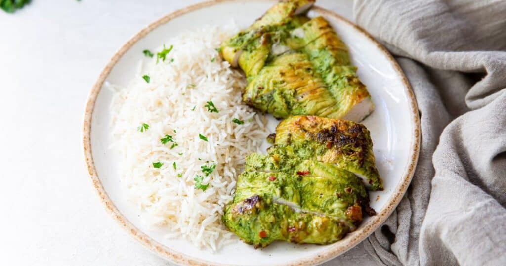
<path id="1" fill-rule="evenodd" d="M 167 23 L 168 21 L 171 21 L 174 18 L 177 18 L 179 16 L 182 16 L 184 14 L 203 9 L 206 7 L 226 3 L 226 2 L 236 2 L 237 0 L 210 0 L 205 1 L 202 3 L 194 4 L 191 6 L 187 6 L 185 8 L 176 10 L 170 14 L 167 14 L 156 21 L 150 23 L 148 26 L 137 32 L 133 37 L 130 38 L 128 42 L 123 44 L 109 59 L 106 66 L 102 69 L 100 72 L 100 75 L 97 79 L 97 81 L 92 86 L 92 89 L 90 91 L 90 94 L 88 96 L 86 107 L 85 107 L 85 115 L 83 117 L 83 124 L 82 124 L 82 148 L 84 153 L 84 159 L 85 164 L 88 169 L 88 173 L 90 175 L 90 179 L 92 181 L 92 184 L 95 188 L 95 191 L 97 195 L 100 198 L 100 201 L 102 202 L 104 208 L 106 211 L 112 215 L 114 220 L 125 230 L 126 232 L 129 232 L 129 235 L 133 237 L 135 240 L 140 242 L 144 247 L 149 249 L 150 251 L 154 252 L 158 256 L 161 256 L 165 259 L 171 260 L 173 262 L 176 262 L 178 264 L 192 264 L 192 265 L 217 265 L 216 262 L 206 261 L 202 260 L 200 258 L 188 256 L 182 253 L 179 253 L 175 250 L 172 250 L 171 248 L 155 241 L 145 233 L 143 233 L 141 230 L 139 230 L 134 224 L 132 224 L 123 214 L 116 208 L 114 203 L 111 201 L 109 196 L 107 195 L 102 182 L 100 181 L 97 170 L 95 168 L 94 160 L 93 160 L 93 154 L 92 154 L 92 145 L 91 145 L 91 127 L 92 127 L 92 118 L 93 118 L 93 111 L 95 107 L 95 101 L 98 97 L 98 94 L 100 90 L 102 89 L 102 86 L 108 77 L 108 75 L 111 72 L 111 69 L 116 65 L 116 63 L 119 61 L 119 59 L 128 51 L 132 46 L 134 46 L 135 43 L 137 43 L 139 40 L 141 40 L 144 36 L 146 36 L 149 32 L 154 30 L 155 28 Z M 262 0 L 264 1 L 264 0 Z M 271 1 L 272 2 L 272 1 Z M 414 128 L 412 135 L 414 136 L 414 139 L 411 143 L 411 154 L 409 159 L 409 164 L 407 166 L 407 170 L 405 170 L 404 176 L 401 178 L 400 182 L 396 185 L 396 187 L 393 189 L 393 194 L 390 196 L 390 199 L 386 203 L 386 207 L 384 207 L 381 211 L 379 211 L 375 216 L 371 217 L 371 219 L 364 224 L 364 226 L 360 229 L 355 231 L 353 237 L 346 237 L 341 241 L 338 241 L 334 244 L 329 245 L 329 248 L 326 250 L 323 250 L 321 254 L 315 254 L 315 255 L 309 255 L 305 256 L 303 258 L 297 259 L 297 260 L 291 260 L 287 261 L 287 263 L 283 263 L 283 265 L 300 265 L 300 264 L 318 264 L 325 262 L 327 260 L 330 260 L 336 256 L 339 256 L 343 254 L 344 252 L 348 251 L 349 249 L 353 248 L 357 244 L 361 243 L 363 240 L 365 240 L 369 235 L 371 235 L 374 230 L 376 230 L 381 224 L 383 224 L 387 218 L 392 214 L 394 209 L 397 207 L 397 205 L 400 203 L 401 199 L 403 198 L 404 194 L 407 191 L 407 188 L 411 182 L 411 179 L 413 177 L 416 163 L 418 161 L 418 155 L 419 155 L 419 146 L 420 146 L 420 121 L 418 117 L 418 107 L 414 98 L 413 90 L 411 89 L 411 86 L 404 75 L 404 72 L 400 68 L 397 61 L 394 59 L 394 57 L 388 52 L 388 50 L 383 47 L 383 45 L 379 44 L 368 32 L 366 32 L 361 27 L 355 25 L 354 23 L 350 22 L 349 20 L 343 18 L 342 16 L 320 8 L 318 6 L 314 6 L 312 10 L 317 11 L 321 15 L 330 16 L 333 17 L 336 20 L 339 20 L 341 22 L 344 22 L 350 26 L 352 26 L 355 30 L 357 30 L 359 33 L 363 34 L 369 41 L 371 41 L 381 53 L 383 53 L 387 60 L 390 61 L 392 66 L 394 67 L 394 70 L 397 72 L 399 77 L 401 78 L 401 82 L 404 85 L 404 90 L 408 96 L 408 101 L 410 105 L 410 111 L 411 111 L 411 117 L 412 121 L 414 122 Z"/>

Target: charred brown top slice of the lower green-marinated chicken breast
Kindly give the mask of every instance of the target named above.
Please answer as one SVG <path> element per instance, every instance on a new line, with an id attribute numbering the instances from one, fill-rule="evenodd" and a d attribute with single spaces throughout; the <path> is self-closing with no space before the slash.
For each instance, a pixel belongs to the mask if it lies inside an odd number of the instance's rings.
<path id="1" fill-rule="evenodd" d="M 362 178 L 371 191 L 383 190 L 375 167 L 369 130 L 361 124 L 316 116 L 294 116 L 276 127 L 273 158 L 314 158 L 332 163 Z M 284 163 L 284 162 L 280 162 Z"/>

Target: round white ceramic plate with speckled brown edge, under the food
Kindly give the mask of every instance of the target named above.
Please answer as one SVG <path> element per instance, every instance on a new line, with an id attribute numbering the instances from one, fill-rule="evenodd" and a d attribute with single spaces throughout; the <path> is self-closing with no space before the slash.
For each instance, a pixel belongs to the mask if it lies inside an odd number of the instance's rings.
<path id="1" fill-rule="evenodd" d="M 92 89 L 86 107 L 83 145 L 86 163 L 106 209 L 129 233 L 162 257 L 181 264 L 317 264 L 352 248 L 370 235 L 390 215 L 404 195 L 418 157 L 419 121 L 409 84 L 392 56 L 366 32 L 340 16 L 313 8 L 310 17 L 324 16 L 348 45 L 358 75 L 367 86 L 375 110 L 363 121 L 371 132 L 374 155 L 385 191 L 370 193 L 371 206 L 377 211 L 367 217 L 357 231 L 337 243 L 294 245 L 277 242 L 265 249 L 239 243 L 219 252 L 202 251 L 184 240 L 166 240 L 160 232 L 147 229 L 138 209 L 126 201 L 119 182 L 118 160 L 110 144 L 109 104 L 112 93 L 103 88 L 105 81 L 125 86 L 134 77 L 144 49 L 154 50 L 185 29 L 204 24 L 225 24 L 231 18 L 247 26 L 260 17 L 273 1 L 217 0 L 188 7 L 167 15 L 136 34 L 112 57 Z M 276 125 L 273 121 L 271 125 Z"/>

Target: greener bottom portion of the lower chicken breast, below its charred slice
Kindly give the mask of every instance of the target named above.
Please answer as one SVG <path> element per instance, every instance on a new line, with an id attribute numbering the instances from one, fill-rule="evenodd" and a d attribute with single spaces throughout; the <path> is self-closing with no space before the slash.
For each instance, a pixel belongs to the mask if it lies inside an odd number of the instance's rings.
<path id="1" fill-rule="evenodd" d="M 332 164 L 300 167 L 310 170 L 241 174 L 222 218 L 230 231 L 255 247 L 275 240 L 329 244 L 354 231 L 367 199 L 363 184 Z"/>

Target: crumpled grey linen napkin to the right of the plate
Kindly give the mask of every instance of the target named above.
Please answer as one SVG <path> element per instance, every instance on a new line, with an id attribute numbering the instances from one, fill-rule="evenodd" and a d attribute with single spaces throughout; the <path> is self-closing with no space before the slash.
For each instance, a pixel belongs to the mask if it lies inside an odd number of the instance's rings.
<path id="1" fill-rule="evenodd" d="M 354 2 L 420 111 L 411 185 L 363 244 L 379 264 L 506 265 L 506 1 Z"/>

